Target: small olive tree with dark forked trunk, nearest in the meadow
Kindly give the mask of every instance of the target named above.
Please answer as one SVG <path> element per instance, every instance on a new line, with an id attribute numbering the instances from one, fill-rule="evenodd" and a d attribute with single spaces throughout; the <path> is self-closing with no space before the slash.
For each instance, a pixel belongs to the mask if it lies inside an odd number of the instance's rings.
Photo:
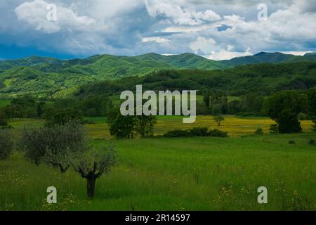
<path id="1" fill-rule="evenodd" d="M 116 163 L 116 150 L 113 145 L 89 150 L 84 154 L 74 153 L 71 158 L 74 171 L 86 179 L 88 198 L 93 198 L 96 190 L 96 179 L 108 174 Z"/>

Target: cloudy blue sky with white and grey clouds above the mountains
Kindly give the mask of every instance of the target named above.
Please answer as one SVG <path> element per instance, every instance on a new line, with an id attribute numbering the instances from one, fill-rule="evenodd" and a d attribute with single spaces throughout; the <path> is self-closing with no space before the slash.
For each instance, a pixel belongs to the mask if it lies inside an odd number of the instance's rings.
<path id="1" fill-rule="evenodd" d="M 316 51 L 316 0 L 0 0 L 0 60 Z"/>

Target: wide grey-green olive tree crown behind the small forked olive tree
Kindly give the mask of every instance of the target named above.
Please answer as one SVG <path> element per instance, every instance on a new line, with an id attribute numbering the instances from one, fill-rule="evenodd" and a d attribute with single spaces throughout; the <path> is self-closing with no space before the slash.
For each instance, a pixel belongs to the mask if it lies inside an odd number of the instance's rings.
<path id="1" fill-rule="evenodd" d="M 22 130 L 20 140 L 25 156 L 35 165 L 46 162 L 65 173 L 70 167 L 69 154 L 86 150 L 84 129 L 76 122 L 60 126 Z"/>

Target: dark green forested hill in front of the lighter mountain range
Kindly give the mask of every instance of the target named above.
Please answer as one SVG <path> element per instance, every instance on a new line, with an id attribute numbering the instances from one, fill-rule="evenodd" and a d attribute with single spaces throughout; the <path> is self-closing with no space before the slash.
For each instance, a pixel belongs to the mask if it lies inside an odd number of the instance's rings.
<path id="1" fill-rule="evenodd" d="M 137 84 L 143 84 L 143 90 L 220 89 L 232 96 L 249 92 L 269 95 L 279 90 L 315 87 L 316 63 L 263 63 L 223 71 L 164 70 L 152 72 L 145 77 L 126 77 L 84 85 L 72 94 L 83 98 L 95 95 L 112 96 L 124 90 L 133 91 Z"/>

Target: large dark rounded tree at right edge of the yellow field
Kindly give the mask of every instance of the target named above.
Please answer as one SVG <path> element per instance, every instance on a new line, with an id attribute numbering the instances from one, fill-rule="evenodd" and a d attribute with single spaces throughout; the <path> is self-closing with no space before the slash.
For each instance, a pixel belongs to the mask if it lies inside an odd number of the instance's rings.
<path id="1" fill-rule="evenodd" d="M 280 91 L 268 98 L 268 115 L 278 124 L 280 134 L 302 131 L 298 113 L 307 108 L 307 99 L 298 91 Z"/>

